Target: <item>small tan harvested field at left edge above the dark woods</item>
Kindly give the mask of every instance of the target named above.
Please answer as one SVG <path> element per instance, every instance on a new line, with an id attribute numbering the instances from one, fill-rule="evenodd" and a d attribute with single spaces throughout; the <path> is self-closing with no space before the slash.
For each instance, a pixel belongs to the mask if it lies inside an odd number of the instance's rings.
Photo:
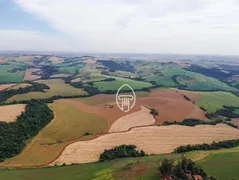
<path id="1" fill-rule="evenodd" d="M 25 104 L 0 106 L 0 122 L 14 122 L 25 111 Z"/>

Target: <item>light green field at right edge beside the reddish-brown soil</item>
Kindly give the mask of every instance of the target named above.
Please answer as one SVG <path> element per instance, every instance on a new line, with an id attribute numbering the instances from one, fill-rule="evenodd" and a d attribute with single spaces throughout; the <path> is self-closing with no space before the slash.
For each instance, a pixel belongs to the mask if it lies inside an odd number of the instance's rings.
<path id="1" fill-rule="evenodd" d="M 201 97 L 196 101 L 196 104 L 206 109 L 209 113 L 222 109 L 224 105 L 239 106 L 239 97 L 228 92 L 199 93 Z"/>

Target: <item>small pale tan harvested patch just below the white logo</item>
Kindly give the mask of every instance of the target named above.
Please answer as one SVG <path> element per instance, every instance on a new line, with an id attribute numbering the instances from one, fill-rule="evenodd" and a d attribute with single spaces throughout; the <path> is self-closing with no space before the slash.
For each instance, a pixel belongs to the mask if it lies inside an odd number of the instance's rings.
<path id="1" fill-rule="evenodd" d="M 132 127 L 148 126 L 155 123 L 150 110 L 141 106 L 141 110 L 119 118 L 110 128 L 109 132 L 123 132 Z"/>

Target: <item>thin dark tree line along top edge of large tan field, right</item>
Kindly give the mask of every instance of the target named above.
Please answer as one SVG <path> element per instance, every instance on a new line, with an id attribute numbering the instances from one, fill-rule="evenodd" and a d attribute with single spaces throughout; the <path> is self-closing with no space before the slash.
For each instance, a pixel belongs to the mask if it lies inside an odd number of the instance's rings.
<path id="1" fill-rule="evenodd" d="M 168 126 L 168 125 L 177 124 L 177 125 L 183 125 L 183 126 L 197 126 L 197 125 L 217 125 L 217 124 L 220 124 L 220 123 L 224 123 L 224 124 L 227 124 L 228 126 L 237 128 L 236 125 L 234 125 L 232 123 L 229 123 L 229 122 L 226 122 L 226 121 L 223 121 L 221 119 L 214 120 L 214 121 L 213 120 L 203 121 L 203 120 L 200 120 L 200 119 L 189 118 L 189 119 L 184 119 L 182 122 L 177 122 L 177 121 L 168 122 L 168 121 L 165 121 L 163 123 L 163 125 Z"/>

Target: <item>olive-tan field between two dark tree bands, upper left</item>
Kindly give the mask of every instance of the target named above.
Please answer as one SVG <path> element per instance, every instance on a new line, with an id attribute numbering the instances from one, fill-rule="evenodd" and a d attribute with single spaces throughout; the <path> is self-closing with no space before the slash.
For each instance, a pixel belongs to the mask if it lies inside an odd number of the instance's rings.
<path id="1" fill-rule="evenodd" d="M 36 82 L 46 84 L 47 86 L 50 87 L 50 89 L 47 90 L 46 92 L 29 92 L 26 94 L 15 95 L 12 98 L 10 98 L 8 102 L 30 99 L 46 99 L 57 95 L 78 96 L 86 94 L 84 90 L 74 88 L 73 86 L 66 84 L 61 79 L 39 80 Z"/>

